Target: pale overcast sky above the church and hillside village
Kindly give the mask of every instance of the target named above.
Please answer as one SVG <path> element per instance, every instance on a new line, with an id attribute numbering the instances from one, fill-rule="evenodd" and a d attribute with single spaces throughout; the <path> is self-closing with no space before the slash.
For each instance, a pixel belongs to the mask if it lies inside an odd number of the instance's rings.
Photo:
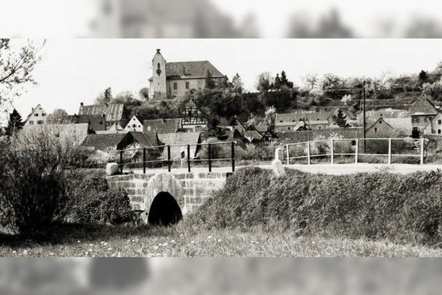
<path id="1" fill-rule="evenodd" d="M 41 103 L 47 112 L 77 113 L 111 86 L 113 94 L 148 87 L 151 59 L 209 60 L 230 79 L 239 73 L 253 91 L 258 74 L 285 70 L 300 84 L 307 73 L 343 77 L 419 73 L 442 60 L 441 39 L 49 39 L 35 69 L 39 83 L 16 99 L 26 116 Z"/>

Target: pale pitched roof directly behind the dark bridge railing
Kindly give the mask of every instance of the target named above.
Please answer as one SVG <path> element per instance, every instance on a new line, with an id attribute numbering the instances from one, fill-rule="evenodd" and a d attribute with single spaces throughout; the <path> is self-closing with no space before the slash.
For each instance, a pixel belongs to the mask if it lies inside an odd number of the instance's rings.
<path id="1" fill-rule="evenodd" d="M 191 158 L 196 158 L 198 146 L 196 146 L 195 144 L 200 143 L 201 133 L 199 132 L 162 133 L 158 134 L 158 137 L 162 142 L 164 142 L 164 144 L 183 145 L 183 146 L 171 146 L 171 159 L 180 160 L 182 151 L 187 151 L 186 144 L 191 144 Z M 164 149 L 163 157 L 164 159 L 167 158 L 167 149 Z"/>

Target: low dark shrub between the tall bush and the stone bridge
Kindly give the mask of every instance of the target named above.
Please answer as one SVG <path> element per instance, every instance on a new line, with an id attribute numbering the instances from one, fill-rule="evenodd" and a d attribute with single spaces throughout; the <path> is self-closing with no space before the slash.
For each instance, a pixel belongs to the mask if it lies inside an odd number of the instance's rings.
<path id="1" fill-rule="evenodd" d="M 71 178 L 70 221 L 111 225 L 131 221 L 133 210 L 126 191 L 109 189 L 101 173 L 73 173 Z"/>

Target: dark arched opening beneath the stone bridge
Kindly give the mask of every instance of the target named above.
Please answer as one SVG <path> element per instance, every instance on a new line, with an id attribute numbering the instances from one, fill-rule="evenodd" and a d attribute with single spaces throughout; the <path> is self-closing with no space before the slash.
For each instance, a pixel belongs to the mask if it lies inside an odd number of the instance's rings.
<path id="1" fill-rule="evenodd" d="M 148 213 L 149 225 L 169 226 L 182 220 L 180 206 L 173 196 L 162 191 L 153 198 L 151 209 Z"/>

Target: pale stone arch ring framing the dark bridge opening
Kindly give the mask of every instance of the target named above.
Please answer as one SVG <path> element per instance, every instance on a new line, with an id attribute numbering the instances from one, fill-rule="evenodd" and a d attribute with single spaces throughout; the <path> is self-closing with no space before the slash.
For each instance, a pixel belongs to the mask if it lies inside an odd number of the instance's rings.
<path id="1" fill-rule="evenodd" d="M 171 200 L 170 197 L 175 200 Z M 175 201 L 175 203 L 173 201 Z M 151 212 L 151 207 L 153 205 L 155 208 L 152 209 L 155 209 L 155 212 Z M 177 213 L 176 205 L 179 207 L 179 214 Z M 157 218 L 159 218 L 158 214 L 160 214 L 158 210 L 164 211 L 167 209 L 170 210 L 170 212 L 165 211 L 164 213 L 172 215 L 177 214 L 177 216 L 180 216 L 182 211 L 184 211 L 184 191 L 181 183 L 171 173 L 159 173 L 153 175 L 146 185 L 144 208 L 144 222 L 148 222 L 149 219 L 151 219 L 151 222 L 153 221 L 152 218 L 149 218 L 149 213 L 157 215 L 155 217 L 155 220 L 157 220 Z"/>

